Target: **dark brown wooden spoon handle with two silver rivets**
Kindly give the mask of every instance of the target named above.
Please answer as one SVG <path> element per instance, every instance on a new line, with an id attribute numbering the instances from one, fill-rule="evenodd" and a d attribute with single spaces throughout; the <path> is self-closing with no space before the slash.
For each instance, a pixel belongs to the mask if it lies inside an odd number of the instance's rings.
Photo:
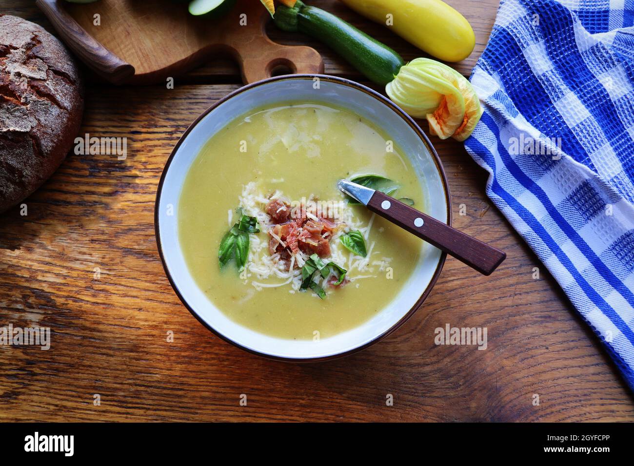
<path id="1" fill-rule="evenodd" d="M 506 259 L 507 254 L 476 240 L 473 236 L 452 228 L 409 205 L 375 191 L 368 209 L 413 233 L 447 254 L 464 262 L 484 275 L 491 273 Z"/>

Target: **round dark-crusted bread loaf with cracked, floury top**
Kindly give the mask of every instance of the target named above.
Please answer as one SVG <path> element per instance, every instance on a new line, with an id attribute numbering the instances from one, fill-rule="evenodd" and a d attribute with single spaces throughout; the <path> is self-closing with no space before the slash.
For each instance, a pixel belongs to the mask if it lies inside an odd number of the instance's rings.
<path id="1" fill-rule="evenodd" d="M 83 94 L 79 70 L 56 37 L 0 15 L 0 212 L 60 166 L 81 125 Z"/>

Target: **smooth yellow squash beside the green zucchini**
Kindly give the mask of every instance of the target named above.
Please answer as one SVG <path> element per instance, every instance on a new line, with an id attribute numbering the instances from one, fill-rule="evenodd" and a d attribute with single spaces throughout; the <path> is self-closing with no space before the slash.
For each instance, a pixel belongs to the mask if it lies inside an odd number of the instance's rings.
<path id="1" fill-rule="evenodd" d="M 464 60 L 474 49 L 475 35 L 469 22 L 441 0 L 341 1 L 441 60 Z"/>

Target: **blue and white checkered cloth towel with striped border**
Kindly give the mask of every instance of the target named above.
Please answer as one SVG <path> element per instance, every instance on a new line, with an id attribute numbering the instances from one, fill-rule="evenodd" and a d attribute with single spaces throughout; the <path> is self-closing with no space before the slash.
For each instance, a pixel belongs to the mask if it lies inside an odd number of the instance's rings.
<path id="1" fill-rule="evenodd" d="M 502 0 L 465 141 L 634 390 L 634 0 Z"/>

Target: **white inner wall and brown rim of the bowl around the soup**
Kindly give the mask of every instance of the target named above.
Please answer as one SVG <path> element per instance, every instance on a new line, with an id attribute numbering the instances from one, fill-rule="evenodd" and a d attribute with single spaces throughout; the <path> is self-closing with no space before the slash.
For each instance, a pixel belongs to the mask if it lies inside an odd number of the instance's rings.
<path id="1" fill-rule="evenodd" d="M 315 89 L 318 82 L 318 89 Z M 424 180 L 425 212 L 451 224 L 451 196 L 443 167 L 429 139 L 394 103 L 356 82 L 327 75 L 286 75 L 241 87 L 207 109 L 183 134 L 165 164 L 155 205 L 155 231 L 165 273 L 183 304 L 219 337 L 252 353 L 291 361 L 315 361 L 359 351 L 400 327 L 417 311 L 443 268 L 446 255 L 421 242 L 415 271 L 396 299 L 359 327 L 333 337 L 287 340 L 235 323 L 198 288 L 184 261 L 178 236 L 178 203 L 190 165 L 217 131 L 255 108 L 287 101 L 323 101 L 347 108 L 384 129 L 410 157 Z"/>

